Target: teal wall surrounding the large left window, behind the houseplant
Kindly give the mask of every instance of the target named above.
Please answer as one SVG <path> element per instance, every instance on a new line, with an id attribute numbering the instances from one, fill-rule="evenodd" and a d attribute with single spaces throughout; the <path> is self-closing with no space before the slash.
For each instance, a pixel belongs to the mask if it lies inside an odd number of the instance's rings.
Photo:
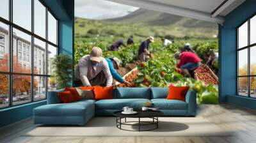
<path id="1" fill-rule="evenodd" d="M 74 0 L 42 0 L 59 20 L 59 52 L 74 59 Z M 74 72 L 73 72 L 74 73 Z M 73 74 L 74 75 L 74 74 Z M 72 83 L 72 81 L 70 81 Z M 35 107 L 46 100 L 0 110 L 0 127 L 33 116 Z"/>

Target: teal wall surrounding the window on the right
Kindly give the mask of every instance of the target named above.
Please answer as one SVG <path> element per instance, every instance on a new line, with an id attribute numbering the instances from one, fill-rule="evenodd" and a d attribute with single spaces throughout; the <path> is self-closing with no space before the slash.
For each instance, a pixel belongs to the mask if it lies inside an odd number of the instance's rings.
<path id="1" fill-rule="evenodd" d="M 256 0 L 247 0 L 225 16 L 223 26 L 219 25 L 220 102 L 234 103 L 248 108 L 256 107 L 255 100 L 250 99 L 248 102 L 243 97 L 236 96 L 236 27 L 254 14 L 256 14 Z"/>

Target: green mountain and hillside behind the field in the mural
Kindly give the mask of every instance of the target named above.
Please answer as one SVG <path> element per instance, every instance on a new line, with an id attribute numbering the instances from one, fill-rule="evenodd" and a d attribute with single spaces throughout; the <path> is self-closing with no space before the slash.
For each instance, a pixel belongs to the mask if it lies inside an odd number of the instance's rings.
<path id="1" fill-rule="evenodd" d="M 125 38 L 134 35 L 170 38 L 212 38 L 218 35 L 218 25 L 212 22 L 189 19 L 158 11 L 138 9 L 124 17 L 90 20 L 76 17 L 76 37 L 95 35 Z"/>

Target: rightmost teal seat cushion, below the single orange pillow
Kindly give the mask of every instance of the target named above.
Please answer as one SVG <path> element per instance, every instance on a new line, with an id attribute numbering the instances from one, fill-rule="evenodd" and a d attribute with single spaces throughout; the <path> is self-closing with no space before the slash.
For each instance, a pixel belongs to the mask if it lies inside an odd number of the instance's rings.
<path id="1" fill-rule="evenodd" d="M 188 104 L 181 100 L 166 100 L 166 99 L 153 99 L 151 100 L 154 107 L 159 110 L 187 110 Z"/>

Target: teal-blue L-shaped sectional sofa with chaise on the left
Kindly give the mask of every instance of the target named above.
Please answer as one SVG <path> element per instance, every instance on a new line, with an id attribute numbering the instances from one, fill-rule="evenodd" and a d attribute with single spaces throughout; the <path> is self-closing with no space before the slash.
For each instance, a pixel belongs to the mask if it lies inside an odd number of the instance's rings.
<path id="1" fill-rule="evenodd" d="M 196 93 L 188 91 L 186 102 L 166 100 L 168 87 L 119 87 L 113 89 L 110 100 L 80 100 L 61 103 L 58 91 L 50 91 L 47 105 L 33 110 L 35 124 L 86 124 L 94 116 L 113 116 L 113 112 L 128 106 L 140 110 L 146 102 L 152 102 L 164 116 L 195 116 Z"/>

